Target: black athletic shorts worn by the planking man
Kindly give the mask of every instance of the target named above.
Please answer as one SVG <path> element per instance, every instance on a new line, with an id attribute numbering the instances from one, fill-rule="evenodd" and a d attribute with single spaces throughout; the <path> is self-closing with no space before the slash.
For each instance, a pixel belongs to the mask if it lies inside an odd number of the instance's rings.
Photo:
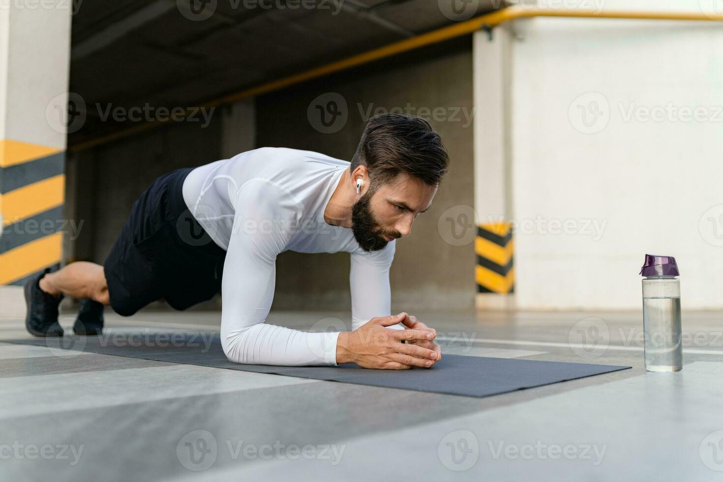
<path id="1" fill-rule="evenodd" d="M 184 202 L 183 181 L 191 171 L 179 169 L 153 181 L 103 264 L 111 307 L 124 317 L 160 298 L 182 310 L 221 291 L 226 251 Z"/>

